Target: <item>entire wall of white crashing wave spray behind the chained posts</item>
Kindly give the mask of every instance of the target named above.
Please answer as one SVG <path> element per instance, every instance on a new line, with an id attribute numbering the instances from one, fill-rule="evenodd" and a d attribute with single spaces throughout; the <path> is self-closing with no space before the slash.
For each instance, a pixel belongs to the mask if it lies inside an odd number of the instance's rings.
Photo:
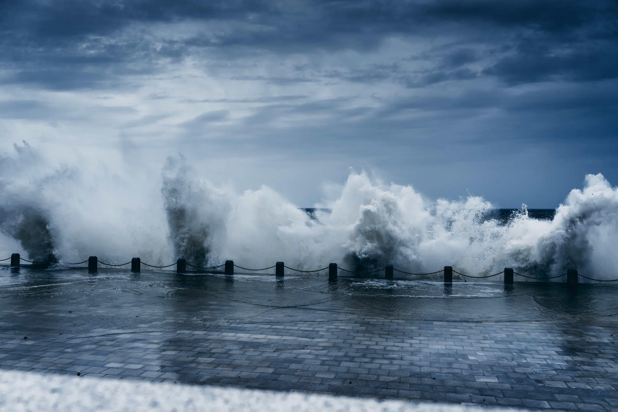
<path id="1" fill-rule="evenodd" d="M 586 175 L 553 221 L 530 219 L 522 209 L 500 225 L 480 219 L 493 208 L 482 198 L 431 201 L 412 186 L 351 172 L 339 198 L 316 205 L 332 209 L 318 211 L 316 222 L 268 187 L 242 195 L 214 187 L 182 158 L 168 159 L 152 176 L 57 166 L 28 146 L 16 149 L 0 160 L 0 258 L 54 253 L 67 263 L 96 254 L 109 263 L 139 256 L 170 264 L 184 257 L 206 266 L 233 259 L 250 268 L 284 261 L 299 269 L 337 262 L 350 270 L 392 263 L 408 272 L 452 265 L 472 275 L 512 266 L 532 276 L 575 268 L 618 277 L 618 190 L 600 174 Z"/>

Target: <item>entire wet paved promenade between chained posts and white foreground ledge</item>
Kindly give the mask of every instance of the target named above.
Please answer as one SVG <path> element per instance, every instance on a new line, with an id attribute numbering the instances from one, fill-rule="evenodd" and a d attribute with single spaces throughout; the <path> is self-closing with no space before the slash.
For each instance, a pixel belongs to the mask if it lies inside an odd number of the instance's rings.
<path id="1" fill-rule="evenodd" d="M 617 296 L 607 285 L 6 268 L 0 369 L 618 411 Z"/>

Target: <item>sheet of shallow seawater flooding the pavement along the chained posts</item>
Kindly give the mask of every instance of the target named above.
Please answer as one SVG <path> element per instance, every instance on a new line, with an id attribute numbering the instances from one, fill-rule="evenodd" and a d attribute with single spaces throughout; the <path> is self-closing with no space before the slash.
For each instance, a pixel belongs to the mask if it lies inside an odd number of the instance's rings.
<path id="1" fill-rule="evenodd" d="M 607 285 L 385 280 L 324 275 L 233 276 L 99 269 L 0 271 L 3 321 L 43 329 L 131 329 L 158 322 L 207 327 L 233 322 L 568 321 L 614 324 L 618 288 Z M 70 310 L 74 309 L 74 310 Z M 61 316 L 32 319 L 31 311 Z M 69 314 L 70 311 L 70 314 Z M 87 315 L 87 316 L 86 316 Z M 70 322 L 67 317 L 70 318 Z"/>

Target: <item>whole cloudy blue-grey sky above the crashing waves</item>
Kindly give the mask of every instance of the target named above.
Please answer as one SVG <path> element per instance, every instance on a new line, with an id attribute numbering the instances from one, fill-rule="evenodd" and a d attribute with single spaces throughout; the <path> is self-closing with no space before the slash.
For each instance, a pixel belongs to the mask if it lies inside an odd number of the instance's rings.
<path id="1" fill-rule="evenodd" d="M 298 206 L 349 167 L 505 208 L 618 183 L 615 0 L 15 1 L 0 34 L 4 153 L 182 153 Z"/>

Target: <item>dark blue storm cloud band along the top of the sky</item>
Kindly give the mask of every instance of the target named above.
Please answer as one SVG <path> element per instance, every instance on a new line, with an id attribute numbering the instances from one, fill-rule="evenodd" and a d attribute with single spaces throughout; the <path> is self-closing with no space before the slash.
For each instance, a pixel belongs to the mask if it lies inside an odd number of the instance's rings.
<path id="1" fill-rule="evenodd" d="M 198 23 L 204 30 L 179 40 L 152 28 L 182 22 Z M 119 77 L 164 70 L 167 63 L 202 49 L 219 59 L 247 53 L 240 49 L 366 51 L 385 38 L 412 35 L 455 36 L 459 43 L 426 56 L 436 67 L 425 74 L 406 76 L 376 66 L 330 75 L 352 82 L 392 77 L 410 87 L 476 77 L 508 84 L 602 80 L 617 74 L 616 22 L 618 3 L 603 0 L 3 2 L 0 52 L 8 72 L 2 82 L 57 89 L 118 87 L 123 84 Z M 485 57 L 494 60 L 485 67 L 465 67 L 483 57 L 470 44 L 482 46 Z"/>

